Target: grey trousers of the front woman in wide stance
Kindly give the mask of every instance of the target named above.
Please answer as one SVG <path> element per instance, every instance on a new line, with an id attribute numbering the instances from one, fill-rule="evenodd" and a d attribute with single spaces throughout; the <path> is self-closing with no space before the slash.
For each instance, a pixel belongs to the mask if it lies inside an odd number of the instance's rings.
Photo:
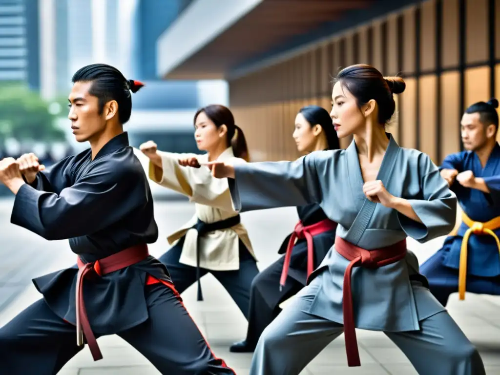
<path id="1" fill-rule="evenodd" d="M 341 324 L 303 311 L 314 299 L 314 288 L 309 286 L 264 329 L 250 375 L 298 374 L 343 332 Z M 420 327 L 418 331 L 384 332 L 420 375 L 485 375 L 476 348 L 446 311 L 421 320 Z"/>

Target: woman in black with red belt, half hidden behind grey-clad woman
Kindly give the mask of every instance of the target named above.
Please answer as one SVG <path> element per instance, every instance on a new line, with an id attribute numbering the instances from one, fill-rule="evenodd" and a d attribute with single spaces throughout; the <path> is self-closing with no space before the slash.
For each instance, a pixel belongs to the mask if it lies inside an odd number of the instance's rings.
<path id="1" fill-rule="evenodd" d="M 328 111 L 317 105 L 299 110 L 293 139 L 298 150 L 304 153 L 339 147 Z M 317 203 L 298 206 L 297 213 L 300 221 L 278 250 L 285 255 L 253 279 L 246 338 L 234 343 L 230 351 L 255 349 L 264 328 L 281 311 L 279 304 L 304 287 L 309 274 L 333 245 L 336 223 L 326 217 Z"/>

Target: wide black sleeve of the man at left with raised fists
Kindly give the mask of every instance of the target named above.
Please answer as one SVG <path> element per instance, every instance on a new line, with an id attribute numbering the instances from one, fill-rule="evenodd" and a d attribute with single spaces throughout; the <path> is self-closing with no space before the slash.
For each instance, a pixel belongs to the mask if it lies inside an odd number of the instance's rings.
<path id="1" fill-rule="evenodd" d="M 107 164 L 94 166 L 58 194 L 22 185 L 10 221 L 54 240 L 92 234 L 123 220 L 145 204 L 147 181 L 142 172 Z"/>

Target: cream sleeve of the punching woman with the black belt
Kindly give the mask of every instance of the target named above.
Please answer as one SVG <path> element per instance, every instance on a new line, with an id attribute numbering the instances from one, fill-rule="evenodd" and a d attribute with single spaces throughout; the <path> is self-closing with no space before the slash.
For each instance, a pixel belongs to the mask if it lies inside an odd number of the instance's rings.
<path id="1" fill-rule="evenodd" d="M 233 211 L 229 186 L 226 178 L 215 178 L 210 168 L 182 166 L 180 158 L 200 155 L 188 153 L 159 152 L 161 168 L 149 161 L 149 178 L 161 186 L 170 188 L 189 197 L 192 202 Z M 202 161 L 202 160 L 200 160 Z M 243 159 L 233 158 L 230 162 L 241 163 Z"/>

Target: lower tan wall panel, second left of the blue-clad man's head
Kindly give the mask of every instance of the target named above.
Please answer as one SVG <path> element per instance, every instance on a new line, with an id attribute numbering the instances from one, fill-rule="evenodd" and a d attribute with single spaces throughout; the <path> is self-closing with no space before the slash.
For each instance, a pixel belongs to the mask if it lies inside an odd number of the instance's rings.
<path id="1" fill-rule="evenodd" d="M 436 84 L 437 76 L 434 74 L 422 75 L 418 80 L 418 101 L 420 126 L 418 136 L 420 138 L 420 150 L 430 156 L 436 163 L 437 139 L 436 139 Z"/>

